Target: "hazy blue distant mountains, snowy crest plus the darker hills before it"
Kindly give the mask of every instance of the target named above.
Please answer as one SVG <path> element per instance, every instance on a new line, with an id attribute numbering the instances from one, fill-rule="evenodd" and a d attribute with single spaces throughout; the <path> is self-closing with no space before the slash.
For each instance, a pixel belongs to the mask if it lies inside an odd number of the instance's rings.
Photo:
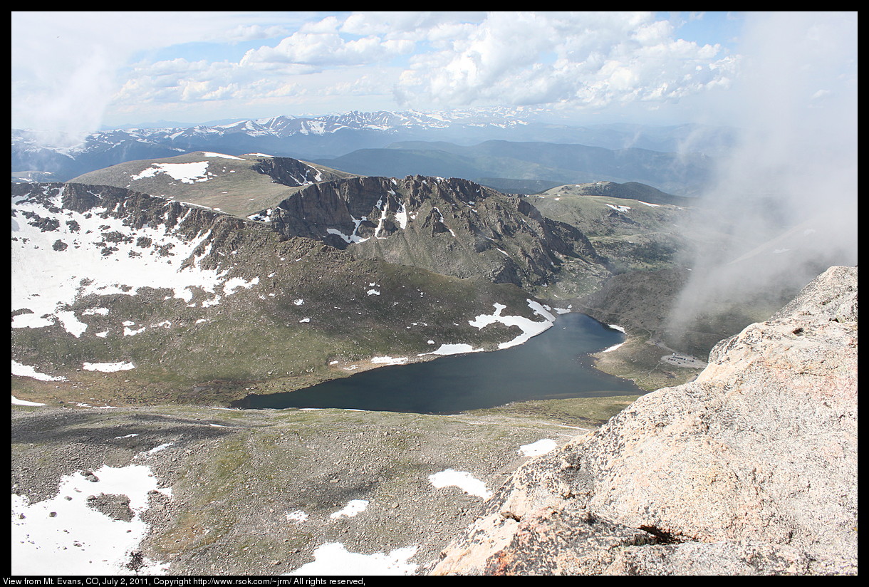
<path id="1" fill-rule="evenodd" d="M 505 109 L 428 114 L 349 112 L 322 117 L 270 117 L 189 128 L 103 130 L 91 133 L 80 141 L 36 130 L 12 130 L 11 173 L 13 181 L 33 181 L 34 177 L 41 181 L 66 181 L 117 163 L 172 157 L 199 150 L 235 156 L 260 152 L 308 161 L 330 159 L 335 161 L 326 163 L 329 166 L 346 163 L 354 169 L 359 168 L 366 157 L 385 155 L 391 161 L 384 162 L 384 165 L 401 168 L 401 172 L 394 174 L 399 176 L 420 173 L 474 180 L 489 177 L 544 182 L 540 184 L 540 189 L 566 182 L 601 179 L 640 181 L 673 193 L 690 194 L 694 184 L 704 180 L 712 163 L 708 157 L 725 151 L 733 144 L 733 137 L 731 129 L 692 124 L 669 127 L 629 124 L 578 127 L 541 123 L 522 111 Z M 506 143 L 519 144 L 507 150 L 509 145 Z M 516 150 L 527 150 L 529 147 L 539 150 L 542 143 L 557 143 L 560 146 L 547 147 L 545 153 L 541 153 L 541 161 L 531 160 L 532 165 L 522 163 L 516 166 L 514 160 L 521 158 L 516 157 Z M 574 149 L 565 149 L 561 145 L 573 145 Z M 607 157 L 620 160 L 619 172 L 616 173 L 615 169 L 595 170 L 582 163 L 563 161 L 565 157 L 578 157 L 574 151 L 580 145 L 588 148 L 579 156 L 584 157 L 587 163 L 597 164 Z M 408 152 L 384 154 L 366 151 L 386 148 Z M 504 150 L 507 152 L 501 152 Z M 615 152 L 607 154 L 607 150 Z M 354 154 L 355 151 L 362 152 Z M 562 152 L 561 158 L 554 155 L 555 151 Z M 646 151 L 667 155 L 653 155 Z M 589 155 L 591 152 L 596 154 Z M 681 174 L 684 177 L 648 177 L 647 168 L 650 164 L 659 168 L 664 162 L 682 165 L 684 156 L 677 157 L 674 155 L 676 152 L 693 153 L 687 156 L 690 161 L 685 170 L 677 171 L 677 176 Z M 468 157 L 474 160 L 467 161 Z M 481 157 L 489 159 L 484 161 Z M 654 157 L 659 157 L 660 161 L 650 163 L 648 160 Z M 399 158 L 407 163 L 401 163 Z M 493 158 L 501 160 L 493 161 Z M 635 165 L 632 163 L 634 158 L 640 159 Z M 437 171 L 407 169 L 415 161 L 425 161 L 430 168 L 438 160 L 441 163 L 438 163 Z M 634 174 L 636 165 L 640 169 Z M 360 172 L 349 168 L 336 167 L 352 173 Z M 575 173 L 578 170 L 584 175 Z M 603 173 L 603 176 L 596 175 L 597 172 Z M 369 170 L 367 174 L 372 173 Z M 389 175 L 381 171 L 374 174 Z M 504 188 L 505 185 L 495 182 L 494 187 Z"/>

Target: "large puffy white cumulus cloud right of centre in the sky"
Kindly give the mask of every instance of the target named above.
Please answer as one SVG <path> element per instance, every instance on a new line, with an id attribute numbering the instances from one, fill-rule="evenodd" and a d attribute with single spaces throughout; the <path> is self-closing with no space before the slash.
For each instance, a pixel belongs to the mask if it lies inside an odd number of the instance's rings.
<path id="1" fill-rule="evenodd" d="M 401 103 L 676 101 L 726 87 L 738 67 L 717 45 L 675 38 L 651 13 L 493 13 L 461 29 L 433 31 L 441 50 L 411 60 L 395 90 Z"/>

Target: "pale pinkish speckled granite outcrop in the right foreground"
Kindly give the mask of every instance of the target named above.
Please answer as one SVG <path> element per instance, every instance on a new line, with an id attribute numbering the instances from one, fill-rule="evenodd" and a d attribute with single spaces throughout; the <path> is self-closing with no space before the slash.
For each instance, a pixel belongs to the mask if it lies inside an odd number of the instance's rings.
<path id="1" fill-rule="evenodd" d="M 856 574 L 857 268 L 518 470 L 434 574 Z"/>

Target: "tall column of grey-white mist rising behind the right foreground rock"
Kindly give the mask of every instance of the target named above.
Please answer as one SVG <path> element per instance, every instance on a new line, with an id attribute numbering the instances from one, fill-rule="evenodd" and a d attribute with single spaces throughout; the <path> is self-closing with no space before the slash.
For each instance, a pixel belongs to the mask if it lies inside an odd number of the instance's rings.
<path id="1" fill-rule="evenodd" d="M 856 14 L 751 15 L 740 50 L 740 144 L 702 198 L 671 333 L 722 304 L 774 308 L 857 264 Z"/>

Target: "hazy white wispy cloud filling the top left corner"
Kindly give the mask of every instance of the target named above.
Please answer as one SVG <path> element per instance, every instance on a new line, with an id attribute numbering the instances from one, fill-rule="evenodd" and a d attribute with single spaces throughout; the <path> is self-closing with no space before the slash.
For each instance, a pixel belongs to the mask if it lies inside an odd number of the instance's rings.
<path id="1" fill-rule="evenodd" d="M 96 130 L 116 108 L 113 96 L 119 90 L 122 104 L 125 97 L 141 98 L 140 104 L 156 99 L 148 90 L 159 81 L 129 70 L 143 53 L 182 43 L 270 37 L 298 23 L 301 17 L 294 13 L 12 12 L 12 125 L 73 134 Z M 190 63 L 175 61 L 176 67 Z M 201 65 L 192 67 L 203 75 Z M 173 81 L 162 81 L 168 97 Z"/>

